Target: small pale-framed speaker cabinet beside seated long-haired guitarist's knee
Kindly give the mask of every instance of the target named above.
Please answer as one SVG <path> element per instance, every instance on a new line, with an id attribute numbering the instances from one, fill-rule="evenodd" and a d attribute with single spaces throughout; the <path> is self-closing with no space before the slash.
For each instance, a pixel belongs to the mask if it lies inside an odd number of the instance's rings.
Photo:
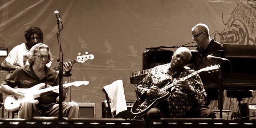
<path id="1" fill-rule="evenodd" d="M 77 102 L 79 106 L 79 118 L 95 118 L 95 103 Z"/>

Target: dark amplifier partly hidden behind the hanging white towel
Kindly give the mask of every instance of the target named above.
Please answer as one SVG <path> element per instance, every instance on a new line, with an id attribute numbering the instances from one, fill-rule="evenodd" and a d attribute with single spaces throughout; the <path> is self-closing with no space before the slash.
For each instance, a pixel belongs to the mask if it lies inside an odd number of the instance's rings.
<path id="1" fill-rule="evenodd" d="M 132 114 L 132 112 L 131 112 L 133 103 L 134 103 L 134 101 L 126 101 L 127 110 L 119 112 L 117 115 L 116 115 L 116 111 L 114 111 L 114 112 L 112 112 L 112 117 L 110 117 L 109 111 L 108 111 L 109 106 L 107 104 L 107 100 L 104 100 L 104 101 L 102 101 L 102 118 L 133 119 L 136 116 L 135 114 Z"/>

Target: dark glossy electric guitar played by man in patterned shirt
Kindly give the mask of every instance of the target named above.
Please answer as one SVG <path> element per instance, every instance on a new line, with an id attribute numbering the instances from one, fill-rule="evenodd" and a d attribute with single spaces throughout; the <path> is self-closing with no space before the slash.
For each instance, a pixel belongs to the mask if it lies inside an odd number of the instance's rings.
<path id="1" fill-rule="evenodd" d="M 212 71 L 212 70 L 216 70 L 219 68 L 220 68 L 220 65 L 205 67 L 205 68 L 200 69 L 190 75 L 187 75 L 186 77 L 183 77 L 180 80 L 185 81 L 186 79 L 189 79 L 190 77 L 193 77 L 194 75 L 196 75 L 202 71 Z M 140 98 L 138 98 L 132 105 L 132 110 L 131 110 L 132 114 L 136 114 L 138 117 L 143 116 L 144 114 L 146 114 L 148 112 L 148 110 L 150 110 L 150 108 L 154 108 L 154 106 L 156 106 L 156 104 L 158 104 L 158 102 L 169 98 L 171 96 L 171 92 L 174 90 L 175 87 L 176 87 L 176 85 L 174 85 L 174 83 L 170 84 L 170 82 L 168 82 L 168 83 L 166 83 L 166 85 L 162 86 L 161 89 L 159 89 L 158 96 L 156 96 L 155 98 L 150 99 L 148 97 L 145 100 L 141 100 Z M 170 89 L 170 90 L 166 91 L 167 89 Z"/>

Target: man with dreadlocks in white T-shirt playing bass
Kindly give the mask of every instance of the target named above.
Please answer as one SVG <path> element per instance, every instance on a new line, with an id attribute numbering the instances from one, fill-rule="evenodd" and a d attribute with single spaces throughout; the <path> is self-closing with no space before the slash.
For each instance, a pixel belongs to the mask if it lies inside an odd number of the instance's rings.
<path id="1" fill-rule="evenodd" d="M 15 46 L 6 59 L 1 64 L 1 69 L 6 71 L 13 71 L 21 66 L 28 65 L 27 57 L 31 47 L 37 43 L 43 43 L 43 32 L 37 26 L 26 28 L 25 32 L 26 42 Z"/>

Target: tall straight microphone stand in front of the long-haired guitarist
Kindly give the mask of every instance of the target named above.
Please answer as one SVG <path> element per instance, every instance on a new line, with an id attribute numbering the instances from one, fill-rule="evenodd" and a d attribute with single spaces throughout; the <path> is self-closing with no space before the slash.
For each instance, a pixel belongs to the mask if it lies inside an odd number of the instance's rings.
<path id="1" fill-rule="evenodd" d="M 62 120 L 62 76 L 63 76 L 63 54 L 60 43 L 60 21 L 57 20 L 58 24 L 58 42 L 59 42 L 59 51 L 60 51 L 60 72 L 59 72 L 59 120 Z"/>

